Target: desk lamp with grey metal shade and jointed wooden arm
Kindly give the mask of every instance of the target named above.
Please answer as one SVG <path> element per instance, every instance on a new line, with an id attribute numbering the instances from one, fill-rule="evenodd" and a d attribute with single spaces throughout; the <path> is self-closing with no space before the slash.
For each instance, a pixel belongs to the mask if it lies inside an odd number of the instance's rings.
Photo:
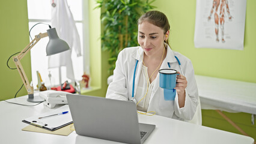
<path id="1" fill-rule="evenodd" d="M 32 49 L 32 47 L 37 44 L 41 38 L 49 36 L 49 42 L 46 46 L 46 55 L 54 55 L 56 53 L 61 53 L 66 50 L 70 50 L 69 45 L 66 43 L 66 41 L 61 40 L 58 37 L 58 34 L 56 32 L 55 28 L 50 28 L 47 30 L 47 32 L 43 34 L 35 35 L 34 40 L 29 43 L 25 49 L 22 50 L 22 52 L 19 53 L 19 55 L 13 57 L 13 61 L 17 67 L 17 70 L 19 71 L 20 77 L 22 79 L 22 82 L 25 85 L 26 91 L 28 92 L 28 101 L 33 103 L 38 103 L 41 101 L 44 101 L 43 98 L 40 97 L 34 97 L 34 88 L 29 84 L 28 78 L 26 77 L 25 71 L 23 70 L 22 64 L 20 63 L 20 60 L 26 55 L 26 53 L 29 52 L 29 50 Z"/>

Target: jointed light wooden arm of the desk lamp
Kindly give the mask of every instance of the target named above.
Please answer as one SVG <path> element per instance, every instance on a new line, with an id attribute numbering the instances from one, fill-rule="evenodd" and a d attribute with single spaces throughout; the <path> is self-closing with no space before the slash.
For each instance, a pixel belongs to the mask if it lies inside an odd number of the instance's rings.
<path id="1" fill-rule="evenodd" d="M 23 49 L 19 55 L 17 56 L 14 56 L 13 57 L 13 61 L 14 61 L 14 64 L 16 65 L 16 68 L 17 70 L 19 71 L 19 74 L 20 74 L 20 77 L 22 79 L 22 82 L 24 83 L 25 85 L 25 88 L 26 88 L 26 91 L 28 92 L 28 94 L 34 94 L 34 89 L 33 89 L 33 86 L 30 86 L 29 84 L 29 80 L 28 80 L 28 77 L 26 77 L 26 73 L 22 67 L 22 64 L 20 62 L 20 60 L 26 55 L 26 53 L 29 52 L 29 50 L 32 49 L 32 47 L 35 46 L 35 44 L 37 44 L 37 42 L 41 39 L 41 38 L 44 38 L 44 37 L 47 37 L 48 34 L 47 32 L 43 33 L 43 34 L 38 34 L 38 35 L 35 35 L 35 38 L 34 40 L 31 41 L 31 43 L 29 43 L 25 49 Z"/>

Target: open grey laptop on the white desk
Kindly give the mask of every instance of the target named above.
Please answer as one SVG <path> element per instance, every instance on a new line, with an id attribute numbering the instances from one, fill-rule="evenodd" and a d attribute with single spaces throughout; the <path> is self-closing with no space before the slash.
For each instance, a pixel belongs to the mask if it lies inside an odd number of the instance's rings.
<path id="1" fill-rule="evenodd" d="M 123 143 L 143 143 L 156 125 L 138 122 L 136 104 L 88 95 L 67 94 L 76 133 Z"/>

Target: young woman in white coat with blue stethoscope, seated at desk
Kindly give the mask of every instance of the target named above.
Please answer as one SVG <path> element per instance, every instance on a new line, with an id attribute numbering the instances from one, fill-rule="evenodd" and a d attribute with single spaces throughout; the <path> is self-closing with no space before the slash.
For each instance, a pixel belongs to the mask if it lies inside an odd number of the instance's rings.
<path id="1" fill-rule="evenodd" d="M 198 104 L 194 68 L 188 58 L 169 47 L 169 28 L 167 17 L 160 11 L 148 11 L 139 18 L 140 46 L 128 47 L 119 53 L 106 98 L 133 100 L 139 111 L 190 120 Z M 175 69 L 180 74 L 177 76 L 174 101 L 164 100 L 163 89 L 159 87 L 158 71 L 164 68 Z"/>

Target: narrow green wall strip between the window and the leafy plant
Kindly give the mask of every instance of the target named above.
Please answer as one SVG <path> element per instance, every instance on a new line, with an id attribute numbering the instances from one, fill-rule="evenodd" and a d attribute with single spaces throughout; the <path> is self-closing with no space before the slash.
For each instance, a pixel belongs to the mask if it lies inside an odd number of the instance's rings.
<path id="1" fill-rule="evenodd" d="M 82 94 L 105 97 L 109 76 L 108 53 L 101 50 L 100 8 L 94 9 L 96 6 L 96 1 L 89 0 L 91 86 L 96 90 L 82 92 Z"/>

